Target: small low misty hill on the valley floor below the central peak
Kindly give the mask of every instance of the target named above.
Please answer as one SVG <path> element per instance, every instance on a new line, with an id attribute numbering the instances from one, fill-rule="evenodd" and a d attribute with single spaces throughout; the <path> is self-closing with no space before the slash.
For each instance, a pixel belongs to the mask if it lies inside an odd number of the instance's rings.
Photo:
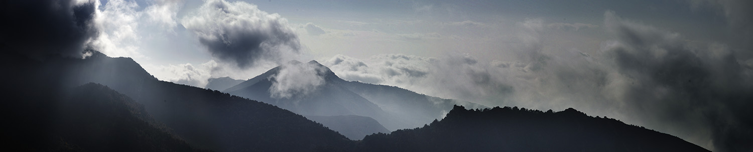
<path id="1" fill-rule="evenodd" d="M 335 115 L 335 116 L 317 116 L 305 115 L 309 120 L 322 123 L 331 130 L 343 134 L 351 140 L 361 140 L 364 136 L 373 133 L 389 133 L 382 124 L 370 117 L 360 115 Z"/>

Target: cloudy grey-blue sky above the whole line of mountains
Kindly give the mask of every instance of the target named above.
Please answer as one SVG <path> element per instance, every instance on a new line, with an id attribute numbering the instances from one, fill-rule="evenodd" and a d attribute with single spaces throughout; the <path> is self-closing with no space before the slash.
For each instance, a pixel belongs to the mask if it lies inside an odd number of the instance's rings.
<path id="1" fill-rule="evenodd" d="M 713 151 L 753 149 L 753 1 L 3 3 L 17 24 L 2 25 L 2 48 L 26 50 L 16 54 L 96 50 L 200 88 L 316 60 L 350 81 L 573 107 Z"/>

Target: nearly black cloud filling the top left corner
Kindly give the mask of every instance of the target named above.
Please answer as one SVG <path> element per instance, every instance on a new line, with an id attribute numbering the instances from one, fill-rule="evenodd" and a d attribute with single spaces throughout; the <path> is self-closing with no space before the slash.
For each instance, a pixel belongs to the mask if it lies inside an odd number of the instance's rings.
<path id="1" fill-rule="evenodd" d="M 96 1 L 3 1 L 2 50 L 20 55 L 81 57 L 96 36 Z"/>

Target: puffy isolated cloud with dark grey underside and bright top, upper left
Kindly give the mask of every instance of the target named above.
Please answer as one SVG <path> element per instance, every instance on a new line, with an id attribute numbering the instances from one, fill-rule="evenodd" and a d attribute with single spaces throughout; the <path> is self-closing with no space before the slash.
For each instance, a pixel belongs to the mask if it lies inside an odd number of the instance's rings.
<path id="1" fill-rule="evenodd" d="M 252 67 L 298 55 L 300 43 L 287 19 L 242 1 L 209 0 L 181 19 L 201 44 L 220 61 Z"/>

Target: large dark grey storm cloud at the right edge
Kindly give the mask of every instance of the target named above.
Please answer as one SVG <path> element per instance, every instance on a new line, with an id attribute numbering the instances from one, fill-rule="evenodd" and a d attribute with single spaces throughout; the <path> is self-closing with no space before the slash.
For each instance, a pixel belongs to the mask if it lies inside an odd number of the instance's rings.
<path id="1" fill-rule="evenodd" d="M 750 151 L 753 143 L 751 76 L 720 44 L 694 45 L 661 31 L 605 13 L 617 38 L 608 52 L 617 70 L 635 80 L 625 103 L 653 122 L 680 130 L 708 130 L 718 151 Z"/>

